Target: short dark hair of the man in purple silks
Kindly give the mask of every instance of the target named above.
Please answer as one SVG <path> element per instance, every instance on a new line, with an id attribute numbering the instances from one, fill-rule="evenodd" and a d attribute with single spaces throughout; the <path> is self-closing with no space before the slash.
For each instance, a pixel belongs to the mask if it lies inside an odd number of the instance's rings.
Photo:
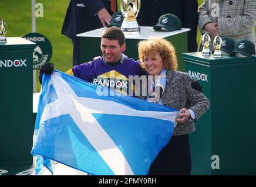
<path id="1" fill-rule="evenodd" d="M 124 37 L 123 31 L 116 26 L 107 28 L 102 33 L 102 39 L 117 40 L 120 47 L 125 42 L 125 37 Z"/>

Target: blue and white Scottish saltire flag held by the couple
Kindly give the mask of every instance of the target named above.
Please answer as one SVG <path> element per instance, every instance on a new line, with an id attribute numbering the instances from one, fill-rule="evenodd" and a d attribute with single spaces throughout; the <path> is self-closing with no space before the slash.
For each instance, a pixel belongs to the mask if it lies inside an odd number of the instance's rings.
<path id="1" fill-rule="evenodd" d="M 56 161 L 92 175 L 147 175 L 178 112 L 132 96 L 104 96 L 106 89 L 59 71 L 43 75 L 31 151 L 36 174 L 53 173 Z"/>

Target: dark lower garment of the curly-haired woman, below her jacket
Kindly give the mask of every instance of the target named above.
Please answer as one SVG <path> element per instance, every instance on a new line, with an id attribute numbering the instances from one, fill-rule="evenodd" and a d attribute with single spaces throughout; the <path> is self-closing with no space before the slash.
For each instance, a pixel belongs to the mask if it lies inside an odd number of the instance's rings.
<path id="1" fill-rule="evenodd" d="M 173 136 L 156 160 L 148 175 L 190 175 L 191 155 L 188 134 Z"/>

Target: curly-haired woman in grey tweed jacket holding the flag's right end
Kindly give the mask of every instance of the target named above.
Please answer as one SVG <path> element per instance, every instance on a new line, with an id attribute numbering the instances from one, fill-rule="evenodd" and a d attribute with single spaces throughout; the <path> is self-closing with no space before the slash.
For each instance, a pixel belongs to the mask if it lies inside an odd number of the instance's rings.
<path id="1" fill-rule="evenodd" d="M 148 175 L 190 175 L 188 133 L 195 131 L 194 122 L 208 110 L 209 100 L 192 88 L 193 79 L 187 73 L 177 71 L 176 53 L 169 41 L 143 40 L 138 50 L 141 66 L 149 74 L 145 81 L 148 87 L 141 87 L 139 98 L 180 111 L 173 136 L 151 164 Z"/>

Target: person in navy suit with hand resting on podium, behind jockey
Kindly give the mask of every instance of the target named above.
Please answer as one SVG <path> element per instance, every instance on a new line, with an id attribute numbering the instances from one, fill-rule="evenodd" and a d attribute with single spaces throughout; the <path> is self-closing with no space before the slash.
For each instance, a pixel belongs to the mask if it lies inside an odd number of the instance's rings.
<path id="1" fill-rule="evenodd" d="M 61 33 L 72 39 L 73 66 L 79 61 L 79 39 L 76 34 L 99 29 L 109 24 L 109 0 L 70 0 Z"/>

